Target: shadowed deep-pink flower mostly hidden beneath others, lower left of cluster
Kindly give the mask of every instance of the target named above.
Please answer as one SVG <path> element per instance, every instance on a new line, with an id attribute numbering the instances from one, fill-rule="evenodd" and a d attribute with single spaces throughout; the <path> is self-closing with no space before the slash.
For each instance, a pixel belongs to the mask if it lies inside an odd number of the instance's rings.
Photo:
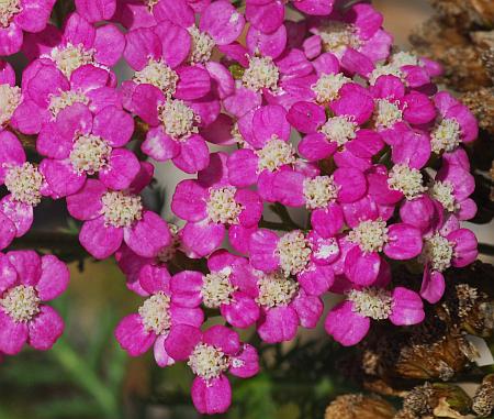
<path id="1" fill-rule="evenodd" d="M 115 260 L 119 267 L 126 276 L 128 289 L 141 296 L 146 295 L 146 291 L 141 286 L 141 282 L 147 280 L 146 277 L 162 275 L 161 271 L 168 272 L 168 263 L 180 250 L 180 231 L 175 224 L 168 224 L 168 227 L 171 234 L 171 241 L 164 246 L 155 257 L 141 256 L 125 243 L 123 243 L 115 252 Z"/>

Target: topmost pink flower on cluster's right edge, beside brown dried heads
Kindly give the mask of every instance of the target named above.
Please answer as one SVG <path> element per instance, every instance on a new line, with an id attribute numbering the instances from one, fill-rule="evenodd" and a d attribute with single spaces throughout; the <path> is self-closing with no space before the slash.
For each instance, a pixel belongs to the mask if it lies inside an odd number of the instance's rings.
<path id="1" fill-rule="evenodd" d="M 440 118 L 430 135 L 433 152 L 449 153 L 461 143 L 470 143 L 476 139 L 479 125 L 469 108 L 446 91 L 437 93 L 434 102 Z"/>

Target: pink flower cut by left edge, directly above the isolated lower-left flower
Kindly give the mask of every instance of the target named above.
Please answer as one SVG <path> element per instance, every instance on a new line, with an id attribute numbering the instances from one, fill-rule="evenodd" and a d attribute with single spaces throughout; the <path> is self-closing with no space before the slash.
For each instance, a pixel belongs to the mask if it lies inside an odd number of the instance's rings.
<path id="1" fill-rule="evenodd" d="M 24 148 L 10 131 L 0 131 L 0 185 L 9 194 L 0 201 L 0 249 L 14 236 L 24 235 L 33 223 L 33 208 L 46 194 L 46 181 L 38 167 L 26 162 Z"/>

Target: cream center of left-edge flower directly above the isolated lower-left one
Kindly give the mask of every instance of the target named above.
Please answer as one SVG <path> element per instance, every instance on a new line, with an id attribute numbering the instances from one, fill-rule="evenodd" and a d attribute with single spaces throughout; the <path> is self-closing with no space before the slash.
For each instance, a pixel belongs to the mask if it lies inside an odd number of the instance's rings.
<path id="1" fill-rule="evenodd" d="M 41 202 L 43 181 L 37 167 L 26 162 L 22 166 L 10 166 L 4 184 L 14 200 L 36 206 Z"/>

